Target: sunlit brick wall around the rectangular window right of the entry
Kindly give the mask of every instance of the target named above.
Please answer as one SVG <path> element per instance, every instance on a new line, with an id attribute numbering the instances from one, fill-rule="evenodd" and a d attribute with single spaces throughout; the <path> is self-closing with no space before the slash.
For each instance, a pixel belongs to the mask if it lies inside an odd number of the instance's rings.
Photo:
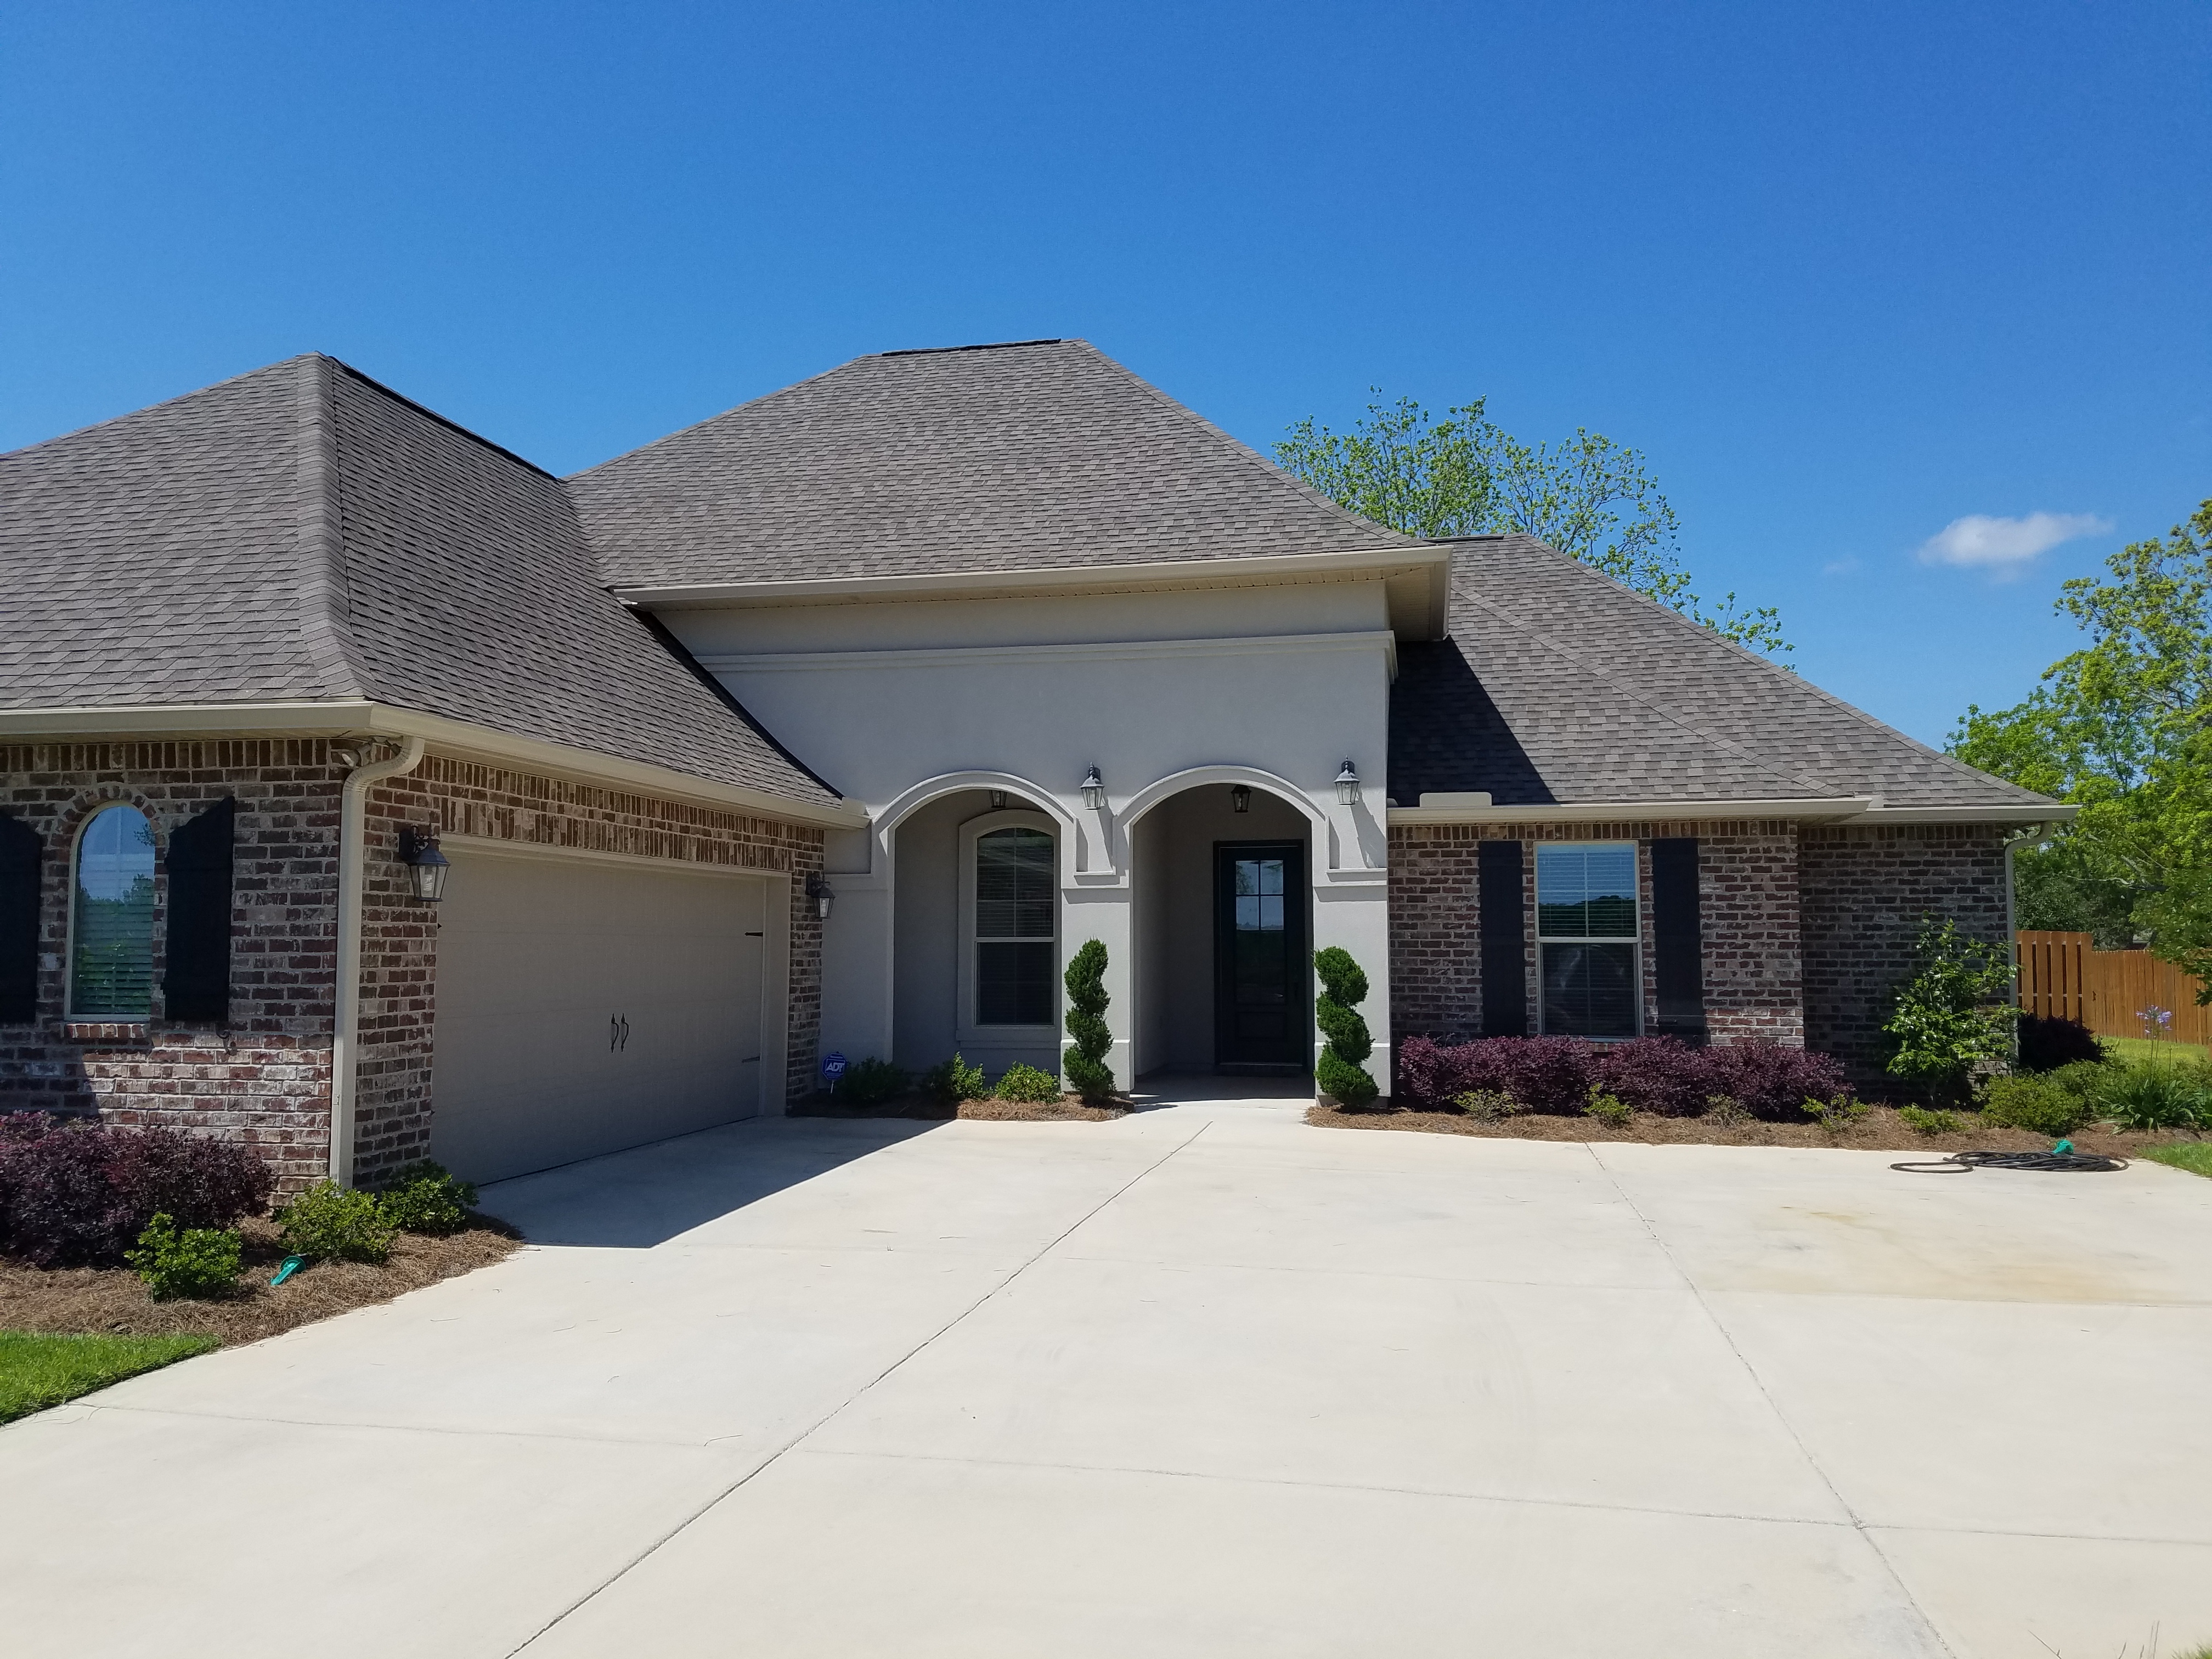
<path id="1" fill-rule="evenodd" d="M 1805 1042 L 1798 945 L 1798 836 L 1792 823 L 1449 823 L 1394 825 L 1391 1024 L 1394 1037 L 1482 1035 L 1482 907 L 1475 847 L 1520 841 L 1528 1029 L 1537 1029 L 1535 845 L 1635 841 L 1644 938 L 1644 1024 L 1657 1015 L 1650 843 L 1697 836 L 1705 1022 L 1712 1042 Z"/>

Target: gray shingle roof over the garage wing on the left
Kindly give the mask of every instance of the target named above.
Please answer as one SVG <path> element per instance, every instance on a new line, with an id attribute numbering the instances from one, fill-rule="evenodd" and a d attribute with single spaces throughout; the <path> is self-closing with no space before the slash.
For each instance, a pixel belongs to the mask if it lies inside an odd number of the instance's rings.
<path id="1" fill-rule="evenodd" d="M 0 456 L 0 708 L 369 699 L 836 792 L 599 584 L 557 478 L 325 356 Z"/>

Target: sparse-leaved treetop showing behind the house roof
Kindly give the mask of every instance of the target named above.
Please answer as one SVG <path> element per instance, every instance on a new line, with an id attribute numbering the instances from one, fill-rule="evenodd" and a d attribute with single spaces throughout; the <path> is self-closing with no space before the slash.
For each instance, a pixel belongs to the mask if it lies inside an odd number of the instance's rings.
<path id="1" fill-rule="evenodd" d="M 1274 447 L 1285 471 L 1340 507 L 1407 535 L 1520 531 L 1595 564 L 1701 628 L 1754 650 L 1785 653 L 1781 617 L 1745 611 L 1736 595 L 1705 606 L 1690 591 L 1677 540 L 1681 524 L 1639 449 L 1577 427 L 1559 445 L 1524 445 L 1502 431 L 1484 400 L 1442 420 L 1411 398 L 1367 405 L 1352 431 L 1312 416 Z"/>

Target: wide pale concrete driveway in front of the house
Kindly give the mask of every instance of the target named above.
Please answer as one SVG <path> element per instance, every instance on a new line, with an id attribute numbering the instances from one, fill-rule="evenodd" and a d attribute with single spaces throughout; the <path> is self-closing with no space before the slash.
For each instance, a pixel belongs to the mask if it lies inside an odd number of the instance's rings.
<path id="1" fill-rule="evenodd" d="M 2212 1641 L 2212 1181 L 761 1121 L 535 1248 L 0 1429 L 69 1655 Z"/>

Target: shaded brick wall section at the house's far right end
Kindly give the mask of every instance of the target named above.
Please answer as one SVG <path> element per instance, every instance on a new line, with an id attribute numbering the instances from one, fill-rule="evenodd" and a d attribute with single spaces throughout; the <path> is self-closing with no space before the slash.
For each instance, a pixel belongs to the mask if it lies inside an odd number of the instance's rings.
<path id="1" fill-rule="evenodd" d="M 1913 971 L 1922 916 L 2006 940 L 2000 825 L 1807 825 L 1798 832 L 1805 1042 L 1832 1053 L 1869 1093 L 1898 1093 L 1882 1071 L 1891 987 Z"/>

